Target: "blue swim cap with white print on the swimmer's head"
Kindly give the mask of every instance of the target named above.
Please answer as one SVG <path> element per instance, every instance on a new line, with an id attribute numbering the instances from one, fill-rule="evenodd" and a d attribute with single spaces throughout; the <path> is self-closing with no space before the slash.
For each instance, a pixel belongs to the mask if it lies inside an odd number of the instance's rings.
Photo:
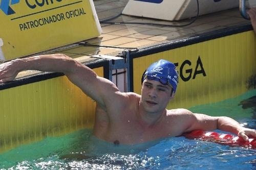
<path id="1" fill-rule="evenodd" d="M 166 60 L 159 60 L 150 65 L 142 76 L 142 82 L 145 80 L 156 80 L 163 85 L 169 85 L 176 92 L 179 82 L 178 72 L 173 63 Z"/>

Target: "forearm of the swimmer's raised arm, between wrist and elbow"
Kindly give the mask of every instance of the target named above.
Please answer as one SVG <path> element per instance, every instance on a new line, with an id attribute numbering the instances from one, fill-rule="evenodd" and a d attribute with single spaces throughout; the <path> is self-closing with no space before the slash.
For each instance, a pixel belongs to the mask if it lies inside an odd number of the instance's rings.
<path id="1" fill-rule="evenodd" d="M 40 70 L 53 72 L 74 72 L 77 62 L 72 58 L 62 55 L 44 55 L 13 60 L 16 68 L 22 70 Z"/>

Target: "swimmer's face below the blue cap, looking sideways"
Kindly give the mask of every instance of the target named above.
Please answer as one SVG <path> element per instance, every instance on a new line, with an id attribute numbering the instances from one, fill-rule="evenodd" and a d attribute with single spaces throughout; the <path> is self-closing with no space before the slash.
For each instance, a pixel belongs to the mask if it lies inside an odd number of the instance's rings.
<path id="1" fill-rule="evenodd" d="M 155 80 L 145 79 L 141 89 L 141 101 L 145 111 L 162 112 L 171 99 L 172 87 Z"/>

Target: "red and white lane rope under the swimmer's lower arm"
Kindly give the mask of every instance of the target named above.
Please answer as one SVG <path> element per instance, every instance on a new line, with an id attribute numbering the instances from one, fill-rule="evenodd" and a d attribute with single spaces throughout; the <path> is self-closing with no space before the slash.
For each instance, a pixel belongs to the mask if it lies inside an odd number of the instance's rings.
<path id="1" fill-rule="evenodd" d="M 230 145 L 232 147 L 243 146 L 249 148 L 256 148 L 256 138 L 249 138 L 245 141 L 242 137 L 233 136 L 230 134 L 220 134 L 217 132 L 192 131 L 184 135 L 188 139 L 201 139 L 204 141 L 212 141 L 223 145 Z"/>

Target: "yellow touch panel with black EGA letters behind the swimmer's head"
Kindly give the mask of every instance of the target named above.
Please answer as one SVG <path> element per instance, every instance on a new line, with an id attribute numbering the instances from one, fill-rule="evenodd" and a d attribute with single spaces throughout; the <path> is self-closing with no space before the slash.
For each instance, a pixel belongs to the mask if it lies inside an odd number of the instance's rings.
<path id="1" fill-rule="evenodd" d="M 188 81 L 179 78 L 175 99 L 168 108 L 189 108 L 191 106 L 218 102 L 233 98 L 247 91 L 247 81 L 256 75 L 256 41 L 252 31 L 192 44 L 173 50 L 152 54 L 133 60 L 134 91 L 141 93 L 141 75 L 153 62 L 166 59 L 178 63 L 177 70 L 185 60 L 182 72 L 192 69 Z M 200 56 L 206 76 L 197 74 L 193 79 Z M 197 70 L 202 70 L 199 66 Z"/>

